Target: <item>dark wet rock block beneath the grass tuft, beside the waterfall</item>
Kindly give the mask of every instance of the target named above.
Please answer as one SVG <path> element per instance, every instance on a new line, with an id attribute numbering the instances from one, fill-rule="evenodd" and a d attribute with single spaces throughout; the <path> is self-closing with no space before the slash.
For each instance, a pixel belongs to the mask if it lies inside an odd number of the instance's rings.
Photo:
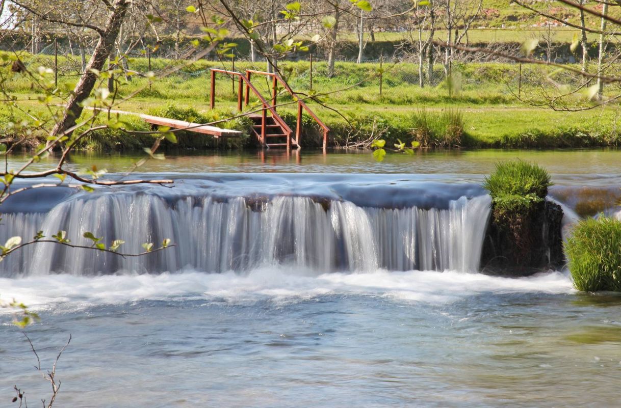
<path id="1" fill-rule="evenodd" d="M 506 214 L 492 204 L 481 272 L 523 277 L 564 264 L 561 206 L 542 202 L 524 213 Z"/>

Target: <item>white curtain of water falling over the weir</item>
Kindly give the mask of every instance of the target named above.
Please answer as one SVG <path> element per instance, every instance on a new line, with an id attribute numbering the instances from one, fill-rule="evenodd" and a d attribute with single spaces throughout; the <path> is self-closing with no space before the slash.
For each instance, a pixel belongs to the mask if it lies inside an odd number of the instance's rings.
<path id="1" fill-rule="evenodd" d="M 7 257 L 0 276 L 67 272 L 97 275 L 153 273 L 194 268 L 244 271 L 271 264 L 335 270 L 460 270 L 476 272 L 489 217 L 489 197 L 451 200 L 448 208 L 373 208 L 348 201 L 292 195 L 252 202 L 211 195 L 165 199 L 147 192 L 78 195 L 43 213 L 3 215 L 0 241 L 30 239 L 38 230 L 64 230 L 72 243 L 83 233 L 126 243 L 120 252 L 141 252 L 143 242 L 175 247 L 144 257 L 57 244 L 36 244 Z"/>

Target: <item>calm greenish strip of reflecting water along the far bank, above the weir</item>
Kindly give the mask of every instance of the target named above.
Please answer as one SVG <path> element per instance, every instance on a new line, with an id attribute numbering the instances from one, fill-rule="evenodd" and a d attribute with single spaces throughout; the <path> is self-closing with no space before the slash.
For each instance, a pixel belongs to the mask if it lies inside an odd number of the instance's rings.
<path id="1" fill-rule="evenodd" d="M 25 155 L 13 155 L 9 166 L 16 167 Z M 74 169 L 96 165 L 109 172 L 123 172 L 143 157 L 140 153 L 75 153 L 69 163 Z M 197 152 L 176 151 L 166 153 L 166 160 L 151 160 L 140 172 L 305 172 L 305 173 L 397 173 L 397 174 L 445 174 L 455 180 L 480 180 L 489 174 L 494 164 L 509 159 L 537 162 L 556 176 L 556 179 L 580 184 L 585 179 L 617 179 L 621 174 L 621 151 L 596 150 L 419 150 L 415 156 L 389 154 L 383 162 L 374 161 L 369 151 L 333 150 L 327 154 L 316 150 L 287 152 L 224 151 Z M 48 168 L 54 158 L 50 157 L 32 170 Z"/>

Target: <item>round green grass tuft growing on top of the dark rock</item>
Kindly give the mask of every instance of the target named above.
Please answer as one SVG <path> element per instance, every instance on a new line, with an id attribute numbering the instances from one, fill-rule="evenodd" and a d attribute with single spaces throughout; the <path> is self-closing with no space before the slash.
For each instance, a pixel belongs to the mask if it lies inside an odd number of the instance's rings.
<path id="1" fill-rule="evenodd" d="M 550 174 L 543 167 L 521 160 L 497 163 L 483 183 L 501 212 L 529 210 L 545 200 L 550 185 Z"/>

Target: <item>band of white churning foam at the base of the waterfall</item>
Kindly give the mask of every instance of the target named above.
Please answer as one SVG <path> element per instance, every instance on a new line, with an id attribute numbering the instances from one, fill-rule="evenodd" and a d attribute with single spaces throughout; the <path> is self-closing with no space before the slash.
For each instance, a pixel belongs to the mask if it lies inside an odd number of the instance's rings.
<path id="1" fill-rule="evenodd" d="M 159 275 L 46 275 L 0 278 L 2 299 L 18 299 L 33 309 L 70 311 L 101 304 L 145 299 L 202 299 L 207 303 L 290 303 L 324 295 L 383 296 L 395 301 L 450 303 L 478 293 L 571 293 L 566 273 L 528 278 L 479 273 L 409 271 L 324 273 L 278 266 L 245 275 L 234 272 L 161 273 Z"/>

